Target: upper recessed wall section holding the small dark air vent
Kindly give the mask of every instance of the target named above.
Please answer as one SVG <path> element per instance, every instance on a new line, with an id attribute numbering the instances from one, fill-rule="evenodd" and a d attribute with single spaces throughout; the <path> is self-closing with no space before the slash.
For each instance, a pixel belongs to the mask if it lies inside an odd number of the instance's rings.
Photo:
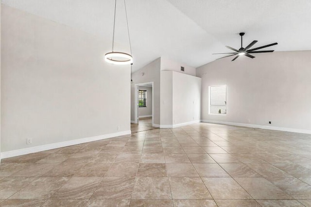
<path id="1" fill-rule="evenodd" d="M 185 71 L 180 70 L 181 66 L 185 68 Z M 195 76 L 195 73 L 196 73 L 195 67 L 191 67 L 184 63 L 178 63 L 165 57 L 161 57 L 161 70 L 170 70 L 170 71 L 175 71 L 175 72 L 179 72 L 183 74 L 188 74 L 191 76 Z"/>

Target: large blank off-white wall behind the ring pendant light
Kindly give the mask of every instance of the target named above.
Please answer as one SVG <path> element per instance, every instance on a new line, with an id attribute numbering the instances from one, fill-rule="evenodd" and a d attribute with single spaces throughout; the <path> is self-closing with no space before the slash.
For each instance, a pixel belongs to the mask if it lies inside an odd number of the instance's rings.
<path id="1" fill-rule="evenodd" d="M 103 61 L 110 44 L 2 5 L 1 152 L 129 133 L 130 67 Z"/>

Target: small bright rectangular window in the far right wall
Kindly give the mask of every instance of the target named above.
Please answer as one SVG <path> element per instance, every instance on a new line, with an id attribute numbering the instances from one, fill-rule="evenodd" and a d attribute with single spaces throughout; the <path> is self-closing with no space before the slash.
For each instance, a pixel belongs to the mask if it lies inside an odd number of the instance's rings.
<path id="1" fill-rule="evenodd" d="M 227 113 L 226 85 L 209 86 L 209 114 Z"/>

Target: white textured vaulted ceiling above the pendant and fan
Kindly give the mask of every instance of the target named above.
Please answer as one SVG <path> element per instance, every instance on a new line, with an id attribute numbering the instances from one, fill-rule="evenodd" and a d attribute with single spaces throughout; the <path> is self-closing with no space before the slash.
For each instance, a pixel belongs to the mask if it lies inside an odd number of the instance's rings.
<path id="1" fill-rule="evenodd" d="M 114 0 L 1 2 L 111 42 Z M 116 45 L 128 48 L 123 0 L 117 5 Z M 244 46 L 258 40 L 254 47 L 278 42 L 271 49 L 311 49 L 310 0 L 126 0 L 126 5 L 134 71 L 160 56 L 193 67 L 206 64 L 219 57 L 211 53 L 231 52 L 226 45 L 240 48 L 239 32 L 246 33 Z"/>

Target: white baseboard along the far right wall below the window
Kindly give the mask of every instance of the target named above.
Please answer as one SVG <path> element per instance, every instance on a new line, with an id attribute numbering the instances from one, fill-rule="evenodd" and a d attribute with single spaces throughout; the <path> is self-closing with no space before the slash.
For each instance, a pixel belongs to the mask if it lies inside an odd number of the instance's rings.
<path id="1" fill-rule="evenodd" d="M 223 121 L 213 121 L 213 120 L 201 120 L 201 122 L 211 123 L 211 124 L 232 125 L 232 126 L 238 126 L 238 127 L 262 128 L 262 129 L 270 129 L 270 130 L 277 130 L 277 131 L 289 131 L 289 132 L 296 132 L 296 133 L 311 134 L 311 130 L 299 129 L 299 128 L 273 127 L 273 126 L 253 125 L 253 124 L 243 124 L 243 123 L 223 122 Z"/>

